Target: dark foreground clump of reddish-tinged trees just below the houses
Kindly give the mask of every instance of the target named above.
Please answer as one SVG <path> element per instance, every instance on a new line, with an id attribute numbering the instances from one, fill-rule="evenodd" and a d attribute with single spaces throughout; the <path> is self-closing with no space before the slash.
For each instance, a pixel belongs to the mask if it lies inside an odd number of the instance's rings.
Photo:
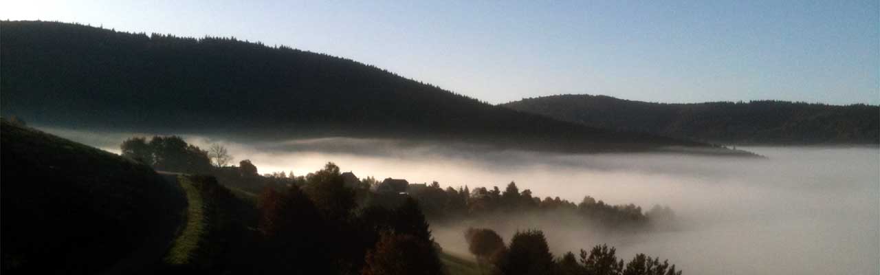
<path id="1" fill-rule="evenodd" d="M 341 274 L 441 274 L 436 244 L 418 203 L 359 209 L 339 167 L 305 176 L 302 187 L 267 188 L 258 199 L 267 271 Z"/>

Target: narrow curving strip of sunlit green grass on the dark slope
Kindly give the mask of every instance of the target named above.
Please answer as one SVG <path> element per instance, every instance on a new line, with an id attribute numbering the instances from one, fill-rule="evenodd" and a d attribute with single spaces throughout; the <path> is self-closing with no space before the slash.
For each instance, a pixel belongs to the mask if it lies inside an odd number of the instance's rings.
<path id="1" fill-rule="evenodd" d="M 206 208 L 202 192 L 185 175 L 177 177 L 180 188 L 187 194 L 187 223 L 180 235 L 172 243 L 172 248 L 165 257 L 165 263 L 172 265 L 190 264 L 194 261 L 195 252 L 202 246 L 209 223 L 206 219 Z"/>

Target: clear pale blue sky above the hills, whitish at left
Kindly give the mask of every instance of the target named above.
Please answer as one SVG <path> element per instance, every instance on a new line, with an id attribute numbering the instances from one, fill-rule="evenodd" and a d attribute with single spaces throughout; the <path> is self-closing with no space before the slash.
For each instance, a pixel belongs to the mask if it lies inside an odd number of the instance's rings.
<path id="1" fill-rule="evenodd" d="M 283 44 L 491 103 L 880 104 L 878 1 L 407 2 L 2 0 L 0 19 Z"/>

